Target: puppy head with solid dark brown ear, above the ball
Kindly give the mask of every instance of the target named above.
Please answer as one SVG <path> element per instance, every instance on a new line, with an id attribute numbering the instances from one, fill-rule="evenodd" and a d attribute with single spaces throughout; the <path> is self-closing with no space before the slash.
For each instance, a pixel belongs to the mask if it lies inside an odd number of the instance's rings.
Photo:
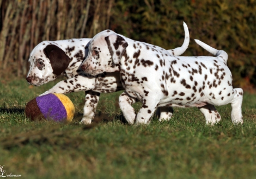
<path id="1" fill-rule="evenodd" d="M 29 84 L 39 86 L 62 74 L 68 68 L 71 59 L 58 44 L 44 41 L 32 50 L 28 61 L 30 68 L 26 79 Z"/>

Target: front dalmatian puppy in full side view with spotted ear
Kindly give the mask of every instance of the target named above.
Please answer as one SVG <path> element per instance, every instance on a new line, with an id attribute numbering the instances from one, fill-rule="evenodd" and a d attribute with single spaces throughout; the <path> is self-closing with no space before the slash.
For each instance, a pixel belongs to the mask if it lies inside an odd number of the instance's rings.
<path id="1" fill-rule="evenodd" d="M 110 62 L 120 66 L 125 92 L 119 106 L 129 123 L 148 124 L 156 107 L 178 106 L 198 107 L 206 124 L 215 124 L 221 117 L 214 105 L 231 103 L 232 122 L 242 124 L 243 90 L 232 86 L 228 54 L 199 40 L 196 43 L 216 57 L 172 56 L 161 47 L 105 30 L 93 37 L 81 68 L 97 75 L 111 72 Z M 137 114 L 128 99 L 141 101 Z"/>

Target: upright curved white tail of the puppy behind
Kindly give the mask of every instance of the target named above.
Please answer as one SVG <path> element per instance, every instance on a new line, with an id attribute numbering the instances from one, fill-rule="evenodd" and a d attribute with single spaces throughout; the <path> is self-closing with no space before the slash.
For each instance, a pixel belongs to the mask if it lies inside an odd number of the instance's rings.
<path id="1" fill-rule="evenodd" d="M 183 22 L 183 27 L 185 31 L 185 39 L 182 46 L 174 48 L 172 50 L 167 50 L 173 56 L 180 56 L 181 54 L 183 54 L 186 51 L 188 44 L 190 43 L 190 33 L 185 22 Z"/>

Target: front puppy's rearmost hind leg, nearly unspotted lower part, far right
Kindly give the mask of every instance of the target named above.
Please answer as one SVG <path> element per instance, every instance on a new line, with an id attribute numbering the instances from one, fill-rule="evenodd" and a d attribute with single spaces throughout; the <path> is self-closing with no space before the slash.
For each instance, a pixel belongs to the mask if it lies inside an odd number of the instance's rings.
<path id="1" fill-rule="evenodd" d="M 234 96 L 231 100 L 231 120 L 233 124 L 242 124 L 242 100 L 243 100 L 243 90 L 241 88 L 233 89 Z"/>

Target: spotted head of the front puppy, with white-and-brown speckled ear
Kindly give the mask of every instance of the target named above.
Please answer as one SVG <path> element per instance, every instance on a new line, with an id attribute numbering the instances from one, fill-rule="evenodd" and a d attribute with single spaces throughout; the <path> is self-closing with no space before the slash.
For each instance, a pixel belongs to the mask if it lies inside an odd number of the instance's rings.
<path id="1" fill-rule="evenodd" d="M 92 75 L 119 71 L 119 62 L 127 46 L 125 39 L 114 31 L 102 31 L 90 42 L 89 54 L 81 69 Z"/>

